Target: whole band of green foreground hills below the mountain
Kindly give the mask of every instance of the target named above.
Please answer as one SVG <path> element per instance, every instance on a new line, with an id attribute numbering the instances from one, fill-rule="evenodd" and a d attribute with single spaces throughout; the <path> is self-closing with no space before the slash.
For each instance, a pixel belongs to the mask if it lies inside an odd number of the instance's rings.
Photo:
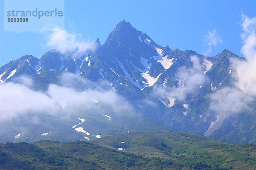
<path id="1" fill-rule="evenodd" d="M 0 144 L 0 169 L 253 170 L 255 157 L 255 144 L 172 131 L 131 132 L 92 142 Z"/>

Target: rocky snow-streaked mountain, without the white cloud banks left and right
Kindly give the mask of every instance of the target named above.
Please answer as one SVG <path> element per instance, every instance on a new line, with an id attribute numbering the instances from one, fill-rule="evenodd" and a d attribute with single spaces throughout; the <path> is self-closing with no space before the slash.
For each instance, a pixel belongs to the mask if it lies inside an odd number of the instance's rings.
<path id="1" fill-rule="evenodd" d="M 105 83 L 106 89 L 128 101 L 132 106 L 128 112 L 133 114 L 126 119 L 126 116 L 124 118 L 112 110 L 103 111 L 96 106 L 95 110 L 90 111 L 89 116 L 85 111 L 81 111 L 73 113 L 68 120 L 51 117 L 51 121 L 47 120 L 50 125 L 41 117 L 40 121 L 45 122 L 42 130 L 52 133 L 49 136 L 41 136 L 41 133 L 45 132 L 41 130 L 39 133 L 35 130 L 35 125 L 32 124 L 29 130 L 23 126 L 27 132 L 26 137 L 21 136 L 17 142 L 28 142 L 31 140 L 28 136 L 32 133 L 37 134 L 32 140 L 34 142 L 46 137 L 57 140 L 53 130 L 61 135 L 64 131 L 60 129 L 76 125 L 80 119 L 85 119 L 85 115 L 87 119 L 81 125 L 93 130 L 95 135 L 121 134 L 127 132 L 125 128 L 129 128 L 128 131 L 169 128 L 235 143 L 255 142 L 256 117 L 253 109 L 238 114 L 227 113 L 226 116 L 220 116 L 210 109 L 209 95 L 218 89 L 232 86 L 236 70 L 232 68 L 230 59 L 244 58 L 228 50 L 223 50 L 214 57 L 207 57 L 192 50 L 180 51 L 170 49 L 169 46 L 162 47 L 125 20 L 116 25 L 104 44 L 101 44 L 99 39 L 95 44 L 96 49 L 87 51 L 81 57 L 76 57 L 76 51 L 61 54 L 55 49 L 45 53 L 41 59 L 31 55 L 22 56 L 0 68 L 0 81 L 10 83 L 17 82 L 17 77 L 31 77 L 35 82 L 32 89 L 46 92 L 49 84 L 61 85 L 63 73 L 72 73 L 93 83 Z M 82 90 L 79 83 L 75 88 L 78 91 Z M 97 113 L 97 116 L 93 113 Z M 102 116 L 101 113 L 105 113 L 111 117 L 112 122 L 116 122 L 109 125 L 111 121 L 102 120 L 102 117 L 99 117 Z M 143 121 L 139 121 L 138 117 L 142 117 Z M 140 122 L 143 123 L 136 126 Z M 20 125 L 20 122 L 16 122 L 15 125 Z M 53 125 L 55 128 L 51 129 Z M 108 128 L 111 130 L 106 130 Z M 69 130 L 72 132 L 70 134 L 77 137 L 60 138 L 62 142 L 83 138 L 81 131 L 77 132 L 72 128 Z M 19 132 L 2 132 L 0 136 L 10 135 L 1 142 L 13 142 L 14 133 Z M 89 137 L 96 139 L 93 136 Z"/>

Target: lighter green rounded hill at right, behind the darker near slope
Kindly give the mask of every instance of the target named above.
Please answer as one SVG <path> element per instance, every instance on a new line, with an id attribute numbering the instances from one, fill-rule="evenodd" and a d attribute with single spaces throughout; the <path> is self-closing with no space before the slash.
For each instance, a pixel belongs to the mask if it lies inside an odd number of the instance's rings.
<path id="1" fill-rule="evenodd" d="M 256 145 L 233 144 L 188 132 L 131 132 L 93 141 L 154 159 L 172 159 L 178 167 L 198 170 L 256 168 Z"/>

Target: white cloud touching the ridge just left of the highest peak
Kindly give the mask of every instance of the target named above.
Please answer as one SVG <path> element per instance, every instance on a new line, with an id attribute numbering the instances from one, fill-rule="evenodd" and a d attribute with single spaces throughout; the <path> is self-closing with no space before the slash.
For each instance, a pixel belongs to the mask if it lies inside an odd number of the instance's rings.
<path id="1" fill-rule="evenodd" d="M 62 54 L 75 51 L 73 57 L 81 57 L 87 51 L 93 50 L 96 44 L 82 40 L 81 34 L 69 33 L 65 29 L 54 27 L 47 35 L 47 46 L 55 48 Z"/>

